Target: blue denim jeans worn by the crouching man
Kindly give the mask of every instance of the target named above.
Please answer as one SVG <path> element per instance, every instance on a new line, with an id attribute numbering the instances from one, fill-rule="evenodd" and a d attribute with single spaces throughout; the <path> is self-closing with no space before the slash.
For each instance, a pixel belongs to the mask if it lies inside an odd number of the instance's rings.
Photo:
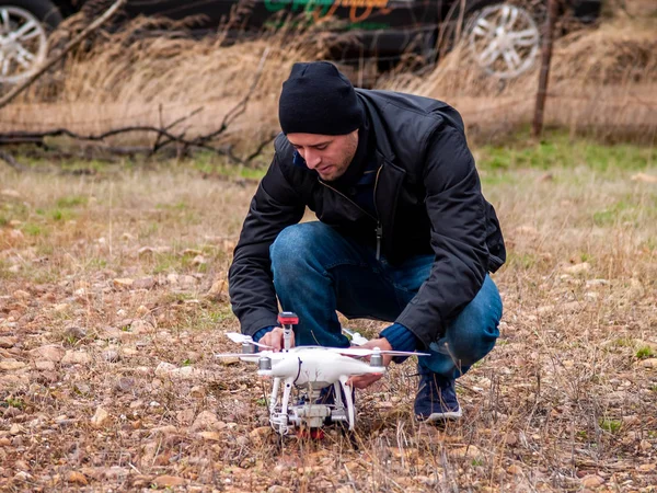
<path id="1" fill-rule="evenodd" d="M 319 222 L 284 229 L 270 249 L 274 287 L 284 310 L 299 316 L 297 345 L 346 347 L 336 310 L 348 319 L 393 322 L 428 278 L 434 255 L 390 265 L 372 249 Z M 495 346 L 502 299 L 488 275 L 461 313 L 429 346 L 420 366 L 458 378 Z M 420 370 L 423 369 L 420 368 Z"/>

